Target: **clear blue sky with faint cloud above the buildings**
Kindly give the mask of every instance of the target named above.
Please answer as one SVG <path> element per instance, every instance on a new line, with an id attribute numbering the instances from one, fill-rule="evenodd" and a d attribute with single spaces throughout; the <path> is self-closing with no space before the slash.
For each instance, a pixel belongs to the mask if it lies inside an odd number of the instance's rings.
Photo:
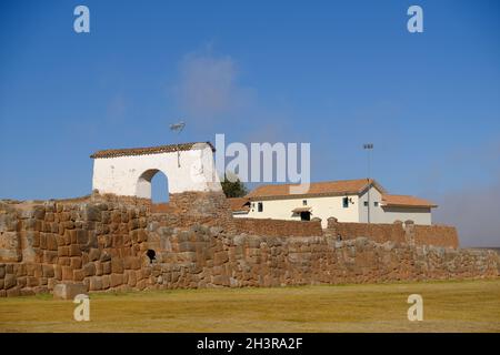
<path id="1" fill-rule="evenodd" d="M 357 179 L 373 142 L 390 192 L 500 245 L 498 1 L 269 2 L 2 1 L 0 197 L 84 195 L 96 150 L 216 133 L 310 142 L 313 181 Z"/>

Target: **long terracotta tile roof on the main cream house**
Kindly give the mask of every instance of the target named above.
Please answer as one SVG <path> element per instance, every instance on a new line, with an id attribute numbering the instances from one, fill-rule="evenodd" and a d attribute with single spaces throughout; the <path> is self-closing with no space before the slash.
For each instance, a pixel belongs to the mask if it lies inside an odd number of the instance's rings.
<path id="1" fill-rule="evenodd" d="M 364 191 L 368 184 L 372 183 L 380 192 L 384 193 L 384 189 L 374 180 L 358 179 L 358 180 L 339 180 L 313 182 L 310 184 L 309 191 L 306 194 L 291 194 L 290 186 L 298 186 L 298 184 L 276 184 L 261 185 L 252 190 L 247 197 L 250 200 L 278 200 L 278 199 L 293 199 L 296 196 L 329 196 L 329 195 L 344 195 L 358 194 Z"/>

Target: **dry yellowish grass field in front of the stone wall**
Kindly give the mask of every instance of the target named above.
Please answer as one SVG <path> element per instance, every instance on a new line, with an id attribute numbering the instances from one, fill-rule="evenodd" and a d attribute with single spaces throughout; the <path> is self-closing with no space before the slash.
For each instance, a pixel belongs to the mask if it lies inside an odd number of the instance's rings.
<path id="1" fill-rule="evenodd" d="M 407 298 L 423 297 L 409 322 Z M 500 332 L 500 280 L 90 295 L 90 322 L 50 295 L 0 298 L 0 332 Z"/>

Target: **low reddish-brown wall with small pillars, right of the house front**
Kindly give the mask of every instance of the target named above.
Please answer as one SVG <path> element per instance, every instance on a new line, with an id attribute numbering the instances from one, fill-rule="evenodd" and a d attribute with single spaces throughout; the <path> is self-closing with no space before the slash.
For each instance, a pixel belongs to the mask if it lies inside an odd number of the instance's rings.
<path id="1" fill-rule="evenodd" d="M 448 225 L 416 225 L 411 221 L 382 223 L 346 223 L 328 219 L 327 233 L 338 240 L 368 237 L 378 243 L 394 242 L 411 245 L 433 245 L 457 248 L 457 229 Z"/>

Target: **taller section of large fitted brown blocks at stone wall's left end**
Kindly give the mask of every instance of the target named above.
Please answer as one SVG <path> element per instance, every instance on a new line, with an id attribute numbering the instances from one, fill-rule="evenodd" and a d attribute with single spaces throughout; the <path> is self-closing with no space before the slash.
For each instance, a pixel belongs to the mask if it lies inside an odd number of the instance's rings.
<path id="1" fill-rule="evenodd" d="M 9 233 L 17 235 L 20 253 L 18 263 L 0 258 L 6 263 L 0 295 L 49 292 L 60 282 L 81 282 L 91 291 L 119 288 L 146 277 L 147 206 L 103 200 L 18 207 L 0 205 L 3 221 L 17 213 L 17 230 Z M 0 230 L 7 229 L 1 221 Z"/>

